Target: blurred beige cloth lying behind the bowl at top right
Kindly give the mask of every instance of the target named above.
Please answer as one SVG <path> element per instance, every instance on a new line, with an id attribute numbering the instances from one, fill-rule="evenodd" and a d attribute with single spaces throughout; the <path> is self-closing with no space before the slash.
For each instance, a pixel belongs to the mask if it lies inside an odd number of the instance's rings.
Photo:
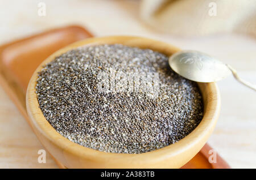
<path id="1" fill-rule="evenodd" d="M 256 37 L 256 0 L 142 0 L 141 18 L 173 35 L 242 32 Z"/>

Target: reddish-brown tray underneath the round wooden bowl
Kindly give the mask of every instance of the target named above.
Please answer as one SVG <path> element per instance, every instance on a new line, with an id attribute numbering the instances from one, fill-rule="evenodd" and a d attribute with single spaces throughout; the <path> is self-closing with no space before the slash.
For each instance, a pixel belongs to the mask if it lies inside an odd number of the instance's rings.
<path id="1" fill-rule="evenodd" d="M 88 37 L 93 36 L 84 28 L 69 26 L 0 46 L 0 83 L 26 119 L 28 119 L 25 104 L 26 89 L 36 67 L 56 50 Z M 219 155 L 217 155 L 217 163 L 210 164 L 208 161 L 210 149 L 212 148 L 205 144 L 201 151 L 182 168 L 230 168 Z M 58 161 L 56 164 L 60 168 L 65 168 Z"/>

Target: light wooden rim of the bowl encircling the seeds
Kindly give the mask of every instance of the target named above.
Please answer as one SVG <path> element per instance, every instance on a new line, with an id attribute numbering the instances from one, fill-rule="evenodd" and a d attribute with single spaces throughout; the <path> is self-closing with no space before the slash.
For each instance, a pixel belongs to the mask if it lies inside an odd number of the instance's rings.
<path id="1" fill-rule="evenodd" d="M 39 108 L 39 102 L 35 93 L 36 79 L 38 78 L 38 72 L 42 70 L 43 66 L 52 61 L 55 57 L 67 52 L 68 50 L 78 48 L 80 46 L 92 46 L 100 44 L 123 44 L 127 46 L 135 46 L 138 48 L 147 48 L 156 50 L 160 53 L 171 55 L 179 48 L 167 44 L 166 42 L 152 40 L 150 38 L 135 37 L 135 36 L 108 36 L 108 37 L 92 37 L 85 40 L 77 41 L 71 45 L 66 46 L 57 52 L 50 55 L 44 60 L 38 68 L 36 68 L 34 74 L 30 79 L 26 93 L 26 106 L 28 116 L 31 119 L 32 124 L 43 134 L 51 143 L 55 144 L 58 148 L 64 149 L 65 152 L 71 153 L 74 156 L 86 157 L 87 159 L 97 159 L 103 161 L 104 158 L 116 158 L 120 161 L 131 162 L 131 160 L 137 160 L 138 158 L 144 163 L 163 160 L 164 158 L 176 156 L 185 151 L 192 150 L 195 145 L 200 145 L 195 151 L 195 154 L 200 151 L 201 147 L 206 143 L 209 135 L 213 131 L 216 125 L 218 115 L 220 112 L 220 92 L 216 83 L 198 83 L 201 89 L 202 86 L 207 88 L 208 95 L 210 93 L 210 99 L 204 101 L 204 115 L 199 125 L 183 139 L 174 144 L 166 147 L 156 149 L 154 151 L 139 153 L 139 154 L 126 154 L 126 153 L 108 153 L 98 151 L 84 147 L 80 144 L 71 142 L 59 132 L 53 128 L 44 117 L 41 109 Z M 206 105 L 205 105 L 206 104 Z M 154 158 L 154 157 L 157 157 Z M 192 157 L 191 157 L 192 158 Z"/>

